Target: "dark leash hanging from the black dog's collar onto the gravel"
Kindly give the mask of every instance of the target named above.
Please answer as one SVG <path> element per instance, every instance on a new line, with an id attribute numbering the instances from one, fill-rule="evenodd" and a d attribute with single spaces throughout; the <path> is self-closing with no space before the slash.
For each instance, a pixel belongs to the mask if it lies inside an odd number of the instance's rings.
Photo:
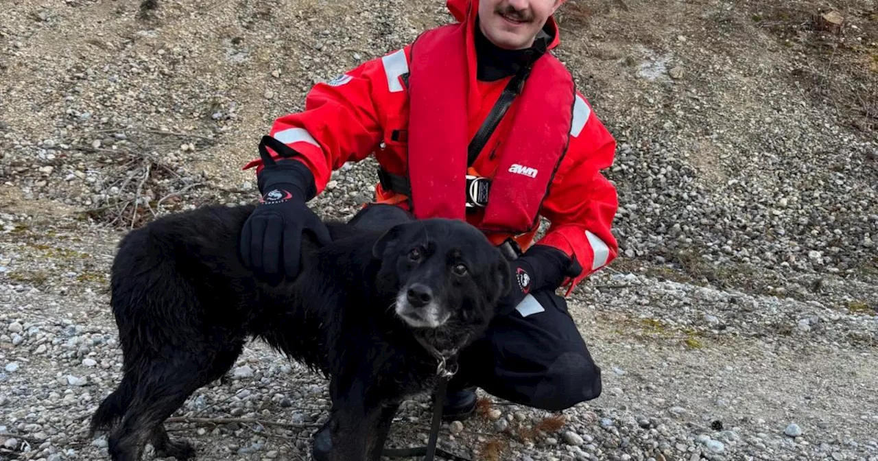
<path id="1" fill-rule="evenodd" d="M 445 354 L 435 349 L 433 346 L 423 342 L 420 337 L 416 337 L 418 342 L 424 349 L 432 354 L 439 364 L 436 365 L 436 376 L 439 382 L 436 384 L 436 399 L 433 404 L 433 422 L 430 427 L 430 435 L 426 447 L 403 448 L 403 449 L 385 449 L 383 455 L 385 457 L 424 457 L 423 461 L 434 461 L 436 455 L 452 461 L 471 461 L 465 457 L 459 457 L 454 453 L 442 450 L 436 447 L 439 439 L 439 428 L 442 426 L 442 408 L 445 400 L 445 393 L 448 391 L 448 382 L 457 373 L 457 348 L 447 351 Z M 464 342 L 465 339 L 464 339 Z M 455 357 L 455 360 L 450 360 Z"/>

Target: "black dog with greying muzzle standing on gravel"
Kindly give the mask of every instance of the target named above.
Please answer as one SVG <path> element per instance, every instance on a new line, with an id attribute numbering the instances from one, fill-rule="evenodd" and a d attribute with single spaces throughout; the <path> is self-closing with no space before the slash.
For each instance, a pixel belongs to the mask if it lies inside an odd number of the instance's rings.
<path id="1" fill-rule="evenodd" d="M 330 459 L 378 459 L 399 402 L 435 384 L 438 354 L 481 335 L 510 283 L 507 261 L 475 227 L 419 220 L 386 233 L 329 222 L 333 244 L 306 238 L 299 277 L 266 285 L 236 249 L 252 210 L 182 212 L 119 243 L 111 304 L 124 377 L 91 420 L 92 436 L 112 428 L 114 461 L 140 459 L 146 443 L 192 457 L 163 421 L 250 338 L 330 378 Z"/>

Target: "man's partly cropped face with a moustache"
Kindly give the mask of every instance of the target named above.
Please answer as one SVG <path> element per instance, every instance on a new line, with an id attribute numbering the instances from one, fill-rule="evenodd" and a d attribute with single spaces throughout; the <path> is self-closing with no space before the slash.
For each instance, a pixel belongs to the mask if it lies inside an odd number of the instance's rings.
<path id="1" fill-rule="evenodd" d="M 562 1 L 479 0 L 479 27 L 498 47 L 527 48 Z"/>

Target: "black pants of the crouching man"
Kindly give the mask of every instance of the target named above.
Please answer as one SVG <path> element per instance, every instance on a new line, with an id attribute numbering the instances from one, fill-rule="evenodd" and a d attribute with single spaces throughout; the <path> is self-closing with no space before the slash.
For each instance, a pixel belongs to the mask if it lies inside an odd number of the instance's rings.
<path id="1" fill-rule="evenodd" d="M 395 205 L 369 205 L 350 220 L 356 227 L 388 229 L 412 220 Z M 479 386 L 496 397 L 558 411 L 601 395 L 601 368 L 554 291 L 531 293 L 486 334 L 461 351 L 449 390 Z"/>

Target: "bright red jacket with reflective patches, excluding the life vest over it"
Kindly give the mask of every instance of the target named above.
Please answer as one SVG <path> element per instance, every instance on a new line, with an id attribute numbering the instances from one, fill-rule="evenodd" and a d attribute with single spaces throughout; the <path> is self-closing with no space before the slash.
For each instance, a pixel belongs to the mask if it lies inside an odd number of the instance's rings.
<path id="1" fill-rule="evenodd" d="M 475 62 L 475 50 L 471 46 L 471 33 L 475 24 L 477 3 L 478 0 L 448 0 L 450 11 L 460 22 L 461 30 L 467 34 L 465 60 L 471 64 L 469 75 L 464 76 L 467 79 L 466 140 L 470 140 L 479 130 L 509 80 L 507 77 L 485 83 L 475 78 L 472 66 Z M 549 19 L 547 25 L 554 30 L 549 46 L 551 49 L 558 46 L 559 31 L 553 18 Z M 416 46 L 419 43 L 417 40 L 414 42 Z M 345 162 L 363 160 L 373 153 L 378 163 L 387 171 L 399 175 L 407 174 L 408 156 L 418 155 L 418 152 L 408 152 L 409 140 L 405 135 L 400 135 L 407 133 L 409 127 L 410 98 L 407 77 L 412 64 L 411 50 L 412 44 L 409 44 L 381 58 L 364 62 L 331 82 L 316 84 L 306 97 L 304 112 L 284 115 L 271 127 L 270 135 L 298 152 L 301 155 L 299 160 L 311 169 L 318 193 L 325 188 L 332 170 L 341 168 Z M 539 59 L 555 60 L 548 53 Z M 559 63 L 557 65 L 560 67 Z M 441 82 L 441 79 L 437 81 Z M 529 80 L 527 84 L 538 83 Z M 497 173 L 501 159 L 493 158 L 492 153 L 502 140 L 515 137 L 516 133 L 509 133 L 509 127 L 513 124 L 510 119 L 514 118 L 509 114 L 515 113 L 516 105 L 524 104 L 518 100 L 522 96 L 523 93 L 510 106 L 507 116 L 501 120 L 479 157 L 471 165 L 470 173 L 487 177 L 493 177 Z M 615 259 L 618 252 L 615 237 L 611 233 L 618 206 L 615 188 L 601 175 L 601 170 L 607 169 L 613 162 L 615 140 L 579 91 L 575 91 L 575 98 L 571 98 L 571 101 L 572 108 L 562 109 L 572 109 L 572 113 L 563 114 L 570 126 L 569 136 L 565 136 L 568 138 L 565 153 L 553 171 L 547 194 L 541 202 L 537 201 L 539 215 L 551 223 L 539 243 L 560 249 L 567 256 L 575 258 L 583 267 L 579 277 L 565 282 L 569 288 L 568 294 L 584 277 Z M 521 139 L 521 134 L 518 136 Z M 422 142 L 419 146 L 421 145 Z M 465 152 L 462 154 L 465 156 Z M 262 168 L 261 161 L 256 159 L 244 168 L 253 166 L 259 167 L 258 172 Z M 414 181 L 417 180 L 414 178 Z M 417 195 L 417 192 L 414 194 Z M 408 205 L 407 197 L 385 191 L 380 184 L 376 185 L 375 197 L 378 202 L 394 203 L 403 207 Z M 457 199 L 455 196 L 455 200 Z M 491 200 L 493 196 L 489 203 Z M 467 213 L 465 217 L 476 227 L 480 227 L 480 221 L 484 218 L 484 212 Z M 538 221 L 535 220 L 535 223 L 538 224 Z M 497 244 L 511 236 L 522 249 L 527 249 L 533 243 L 537 227 L 511 233 L 483 228 L 483 232 Z"/>

